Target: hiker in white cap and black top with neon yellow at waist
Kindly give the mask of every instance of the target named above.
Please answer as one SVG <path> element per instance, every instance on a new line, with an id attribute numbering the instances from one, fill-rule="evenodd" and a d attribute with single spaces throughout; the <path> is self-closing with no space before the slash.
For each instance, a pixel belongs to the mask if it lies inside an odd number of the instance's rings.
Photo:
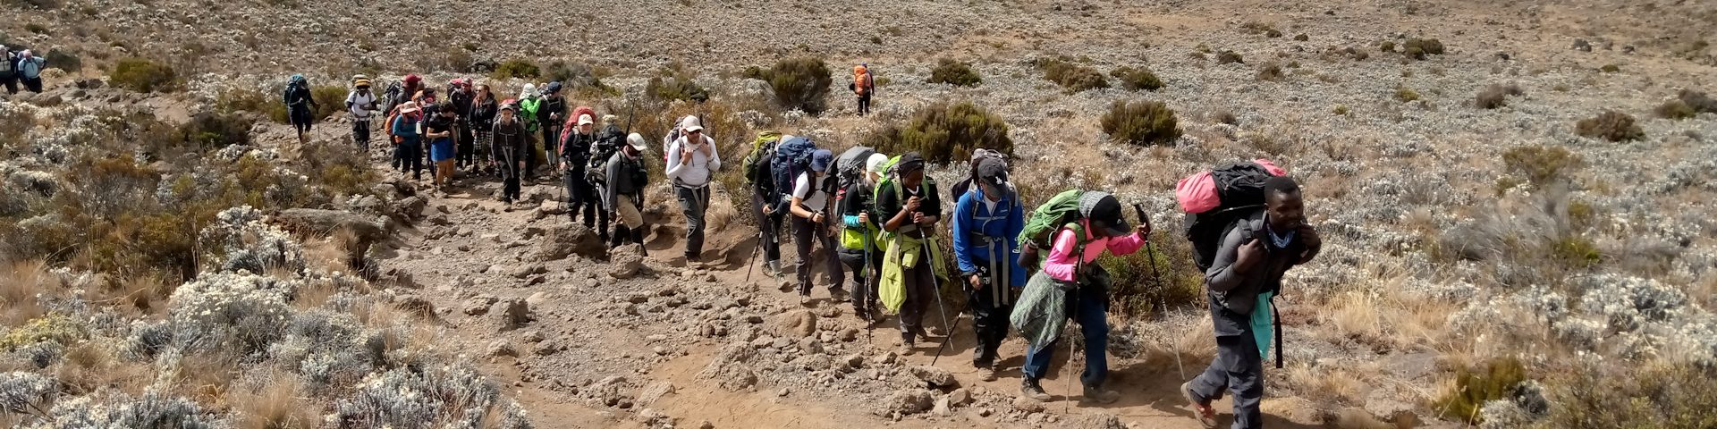
<path id="1" fill-rule="evenodd" d="M 871 216 L 872 196 L 876 196 L 876 184 L 883 180 L 883 165 L 888 163 L 888 154 L 872 153 L 864 160 L 864 173 L 858 180 L 850 180 L 841 185 L 841 192 L 834 197 L 834 206 L 841 208 L 841 220 L 846 228 L 841 230 L 841 263 L 853 271 L 853 312 L 864 321 L 876 321 L 877 295 L 876 281 L 883 269 L 883 252 L 877 247 L 876 235 L 881 232 L 877 227 L 877 218 Z M 865 261 L 869 256 L 871 261 Z"/>

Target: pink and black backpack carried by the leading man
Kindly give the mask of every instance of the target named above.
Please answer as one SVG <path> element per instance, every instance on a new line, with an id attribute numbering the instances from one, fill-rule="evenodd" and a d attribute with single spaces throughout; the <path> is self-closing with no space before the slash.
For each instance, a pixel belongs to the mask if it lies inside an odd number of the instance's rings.
<path id="1" fill-rule="evenodd" d="M 1269 160 L 1253 160 L 1198 172 L 1174 185 L 1198 271 L 1210 269 L 1223 235 L 1235 221 L 1264 211 L 1264 180 L 1286 173 Z"/>

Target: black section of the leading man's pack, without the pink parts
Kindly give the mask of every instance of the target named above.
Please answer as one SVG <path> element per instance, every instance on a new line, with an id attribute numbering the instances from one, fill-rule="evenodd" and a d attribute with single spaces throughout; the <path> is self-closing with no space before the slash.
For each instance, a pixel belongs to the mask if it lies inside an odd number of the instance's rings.
<path id="1" fill-rule="evenodd" d="M 1264 211 L 1264 180 L 1272 173 L 1255 161 L 1221 165 L 1210 170 L 1210 180 L 1223 204 L 1202 213 L 1186 213 L 1186 240 L 1192 242 L 1193 263 L 1198 271 L 1210 269 L 1223 237 L 1240 220 L 1250 220 Z"/>

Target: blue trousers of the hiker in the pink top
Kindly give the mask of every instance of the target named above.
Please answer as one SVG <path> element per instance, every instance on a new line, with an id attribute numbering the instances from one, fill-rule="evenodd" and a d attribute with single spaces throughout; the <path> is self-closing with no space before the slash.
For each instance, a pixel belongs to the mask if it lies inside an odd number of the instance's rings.
<path id="1" fill-rule="evenodd" d="M 1102 379 L 1109 376 L 1109 321 L 1104 319 L 1109 311 L 1109 293 L 1097 287 L 1080 287 L 1077 293 L 1068 295 L 1066 311 L 1078 323 L 1080 333 L 1085 335 L 1085 372 L 1080 374 L 1078 381 L 1087 388 L 1101 388 Z M 1044 379 L 1061 340 L 1056 338 L 1042 348 L 1025 350 L 1023 372 L 1027 379 Z"/>

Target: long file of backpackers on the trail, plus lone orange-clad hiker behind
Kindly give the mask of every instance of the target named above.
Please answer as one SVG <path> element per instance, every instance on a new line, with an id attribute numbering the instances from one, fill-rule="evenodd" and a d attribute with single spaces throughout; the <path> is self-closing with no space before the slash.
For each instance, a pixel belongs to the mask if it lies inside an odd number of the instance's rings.
<path id="1" fill-rule="evenodd" d="M 314 108 L 304 88 L 304 77 L 294 76 L 285 93 L 300 136 L 309 130 L 307 112 Z M 541 144 L 541 156 L 558 158 L 555 172 L 567 189 L 573 221 L 584 216 L 584 225 L 611 247 L 644 242 L 640 208 L 651 180 L 644 158 L 649 142 L 623 130 L 613 113 L 568 108 L 560 82 L 525 84 L 524 93 L 507 100 L 467 79 L 448 82 L 445 98 L 417 76 L 381 94 L 366 76 L 352 77 L 352 88 L 345 100 L 352 141 L 367 149 L 369 122 L 383 115 L 391 165 L 400 173 L 422 180 L 428 158 L 438 192 L 455 170 L 498 177 L 500 197 L 512 209 L 520 199 L 520 182 L 532 180 L 539 165 L 555 165 L 537 158 Z M 867 112 L 874 88 L 865 65 L 855 67 L 852 89 L 860 113 Z M 676 120 L 661 144 L 663 172 L 687 223 L 685 264 L 694 266 L 702 259 L 704 214 L 711 182 L 723 170 L 721 154 L 697 115 Z M 977 336 L 972 364 L 984 381 L 998 378 L 1001 343 L 1015 329 L 1027 340 L 1022 395 L 1049 400 L 1041 381 L 1063 328 L 1073 321 L 1085 345 L 1083 396 L 1097 403 L 1119 398 L 1104 388 L 1113 281 L 1097 257 L 1150 247 L 1152 227 L 1138 204 L 1133 204 L 1137 225 L 1126 220 L 1125 204 L 1104 190 L 1065 190 L 1027 211 L 1006 156 L 977 149 L 965 178 L 946 194 L 953 204 L 944 211 L 944 196 L 925 175 L 927 161 L 919 153 L 889 156 L 850 148 L 836 154 L 810 137 L 780 132 L 761 132 L 749 146 L 740 168 L 759 225 L 755 252 L 762 263 L 747 266 L 761 266 L 773 278 L 792 271 L 797 281 L 781 285 L 797 288 L 802 305 L 816 305 L 812 273 L 822 264 L 829 300 L 852 302 L 857 317 L 871 326 L 896 314 L 898 353 L 910 355 L 920 341 L 932 340 L 925 329 L 932 305 L 943 326 L 953 328 L 939 292 L 956 285 L 972 312 Z M 484 156 L 476 156 L 479 149 Z M 1233 427 L 1260 427 L 1262 362 L 1272 338 L 1281 360 L 1271 299 L 1283 275 L 1312 261 L 1322 242 L 1305 223 L 1298 184 L 1267 160 L 1200 172 L 1176 185 L 1176 197 L 1186 213 L 1193 263 L 1205 273 L 1217 338 L 1216 359 L 1180 391 L 1207 426 L 1214 426 L 1210 402 L 1235 395 Z M 618 220 L 613 230 L 610 218 Z M 781 264 L 783 227 L 792 228 L 797 251 L 792 268 Z M 950 247 L 941 247 L 939 232 L 951 237 Z M 817 247 L 821 256 L 814 252 Z M 953 257 L 944 254 L 950 249 Z M 852 293 L 843 287 L 846 271 Z M 943 347 L 951 335 L 939 333 Z"/>

